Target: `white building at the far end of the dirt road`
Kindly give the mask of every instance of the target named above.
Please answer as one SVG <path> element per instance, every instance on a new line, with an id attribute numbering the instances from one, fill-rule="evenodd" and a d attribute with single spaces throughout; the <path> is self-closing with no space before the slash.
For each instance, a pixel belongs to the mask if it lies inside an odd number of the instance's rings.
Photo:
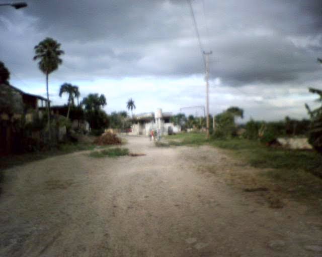
<path id="1" fill-rule="evenodd" d="M 171 112 L 162 112 L 162 109 L 156 109 L 155 114 L 148 112 L 136 115 L 131 134 L 148 136 L 151 130 L 159 131 L 160 135 L 178 133 L 181 128 L 170 122 L 171 116 Z"/>

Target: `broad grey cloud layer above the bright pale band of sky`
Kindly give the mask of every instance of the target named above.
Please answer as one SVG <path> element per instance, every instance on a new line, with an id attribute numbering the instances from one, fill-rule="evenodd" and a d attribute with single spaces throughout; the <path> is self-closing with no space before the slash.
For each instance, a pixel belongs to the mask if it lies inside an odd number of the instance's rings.
<path id="1" fill-rule="evenodd" d="M 60 78 L 204 72 L 186 0 L 27 2 L 19 13 L 0 10 L 1 58 L 26 78 L 39 74 L 31 61 L 33 46 L 47 36 L 66 53 Z M 212 78 L 243 85 L 317 77 L 322 1 L 205 0 L 206 17 L 201 2 L 192 3 L 205 50 L 213 51 Z M 26 33 L 19 31 L 27 21 Z"/>

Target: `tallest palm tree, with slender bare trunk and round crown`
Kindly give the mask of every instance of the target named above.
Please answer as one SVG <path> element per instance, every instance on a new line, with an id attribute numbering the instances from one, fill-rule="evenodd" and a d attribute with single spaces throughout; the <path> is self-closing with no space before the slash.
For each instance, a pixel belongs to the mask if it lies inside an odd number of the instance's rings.
<path id="1" fill-rule="evenodd" d="M 60 50 L 60 44 L 52 39 L 46 38 L 43 41 L 39 42 L 35 46 L 35 56 L 34 61 L 39 60 L 38 66 L 39 69 L 46 74 L 46 89 L 47 89 L 47 114 L 48 114 L 48 130 L 49 130 L 49 141 L 50 137 L 50 102 L 49 102 L 49 90 L 48 90 L 48 75 L 57 70 L 58 66 L 62 63 L 62 60 L 59 58 L 60 55 L 64 54 L 64 51 Z"/>

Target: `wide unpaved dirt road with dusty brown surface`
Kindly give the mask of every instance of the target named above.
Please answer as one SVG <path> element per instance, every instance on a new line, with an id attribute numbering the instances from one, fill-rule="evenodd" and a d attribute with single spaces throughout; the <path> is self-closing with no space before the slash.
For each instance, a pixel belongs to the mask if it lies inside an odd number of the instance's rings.
<path id="1" fill-rule="evenodd" d="M 321 217 L 228 186 L 219 150 L 143 137 L 124 147 L 146 156 L 79 152 L 8 169 L 0 256 L 322 256 Z"/>

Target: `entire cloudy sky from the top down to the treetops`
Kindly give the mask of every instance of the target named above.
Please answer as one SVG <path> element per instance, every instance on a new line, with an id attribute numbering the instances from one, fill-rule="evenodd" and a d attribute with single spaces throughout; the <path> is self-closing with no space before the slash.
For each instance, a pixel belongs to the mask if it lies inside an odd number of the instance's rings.
<path id="1" fill-rule="evenodd" d="M 21 1 L 19 1 L 21 2 Z M 104 94 L 105 110 L 203 115 L 209 56 L 209 112 L 244 109 L 245 120 L 307 118 L 315 106 L 308 87 L 322 89 L 322 1 L 27 0 L 27 8 L 0 7 L 0 61 L 10 83 L 46 96 L 45 75 L 33 61 L 46 37 L 65 54 L 49 75 L 52 104 L 59 87 L 79 87 L 81 98 Z M 0 0 L 0 4 L 8 3 Z"/>

